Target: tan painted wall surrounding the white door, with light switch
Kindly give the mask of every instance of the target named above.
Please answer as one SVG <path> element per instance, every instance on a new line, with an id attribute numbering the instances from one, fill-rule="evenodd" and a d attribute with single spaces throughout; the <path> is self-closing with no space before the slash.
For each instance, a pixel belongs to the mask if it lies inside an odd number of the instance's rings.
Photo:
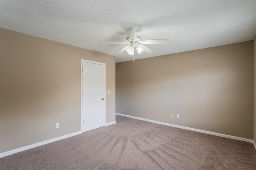
<path id="1" fill-rule="evenodd" d="M 106 122 L 115 121 L 114 56 L 6 29 L 0 37 L 0 153 L 81 130 L 81 59 L 106 63 Z"/>

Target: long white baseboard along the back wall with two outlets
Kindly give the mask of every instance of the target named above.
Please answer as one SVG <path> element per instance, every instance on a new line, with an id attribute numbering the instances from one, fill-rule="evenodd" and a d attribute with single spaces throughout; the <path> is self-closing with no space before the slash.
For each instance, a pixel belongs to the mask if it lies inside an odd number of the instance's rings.
<path id="1" fill-rule="evenodd" d="M 238 141 L 244 141 L 244 142 L 254 143 L 254 141 L 253 141 L 252 139 L 246 139 L 246 138 L 242 138 L 242 137 L 236 137 L 236 136 L 231 136 L 231 135 L 225 135 L 225 134 L 222 134 L 222 133 L 204 131 L 204 130 L 200 130 L 200 129 L 194 129 L 194 128 L 190 128 L 190 127 L 185 127 L 185 126 L 180 126 L 180 125 L 174 125 L 174 124 L 164 123 L 164 122 L 160 122 L 160 121 L 154 121 L 154 120 L 150 120 L 150 119 L 144 119 L 144 118 L 135 117 L 135 116 L 130 116 L 130 115 L 125 115 L 125 114 L 121 114 L 121 113 L 116 113 L 116 115 L 126 116 L 126 117 L 130 117 L 130 118 L 133 118 L 133 119 L 148 121 L 148 122 L 157 123 L 157 124 L 161 124 L 161 125 L 167 125 L 167 126 L 177 127 L 177 128 L 180 128 L 180 129 L 186 129 L 186 130 L 190 130 L 190 131 L 196 131 L 196 132 L 200 132 L 200 133 L 206 133 L 206 134 L 209 134 L 209 135 L 215 135 L 215 136 L 219 136 L 219 137 L 226 137 L 226 138 L 235 139 L 235 140 L 238 140 Z M 255 147 L 255 149 L 256 149 L 255 143 L 254 143 L 254 147 Z"/>

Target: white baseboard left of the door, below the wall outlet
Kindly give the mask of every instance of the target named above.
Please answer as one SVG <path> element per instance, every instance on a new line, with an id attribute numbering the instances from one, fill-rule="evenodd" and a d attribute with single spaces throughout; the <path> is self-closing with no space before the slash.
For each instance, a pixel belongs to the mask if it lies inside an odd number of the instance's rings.
<path id="1" fill-rule="evenodd" d="M 18 152 L 21 152 L 21 151 L 24 151 L 24 150 L 28 150 L 28 149 L 32 149 L 32 148 L 35 148 L 35 147 L 39 147 L 39 146 L 42 146 L 42 145 L 45 145 L 45 144 L 48 144 L 48 143 L 59 141 L 59 140 L 62 140 L 62 139 L 68 138 L 68 137 L 79 135 L 81 133 L 82 133 L 82 131 L 78 131 L 78 132 L 71 133 L 71 134 L 68 134 L 68 135 L 64 135 L 64 136 L 61 136 L 61 137 L 56 137 L 54 139 L 49 139 L 47 141 L 42 141 L 42 142 L 39 142 L 39 143 L 34 143 L 34 144 L 28 145 L 26 147 L 21 147 L 21 148 L 18 148 L 18 149 L 9 150 L 7 152 L 2 152 L 2 153 L 0 153 L 0 158 L 2 158 L 4 156 L 11 155 L 11 154 L 15 154 L 15 153 L 18 153 Z"/>

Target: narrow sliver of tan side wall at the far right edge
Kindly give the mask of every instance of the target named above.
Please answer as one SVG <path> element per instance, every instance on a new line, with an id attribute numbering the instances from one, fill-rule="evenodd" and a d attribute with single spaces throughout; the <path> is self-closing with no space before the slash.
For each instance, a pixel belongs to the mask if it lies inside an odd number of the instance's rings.
<path id="1" fill-rule="evenodd" d="M 256 143 L 256 36 L 253 40 L 254 55 L 254 113 L 253 113 L 253 140 Z"/>

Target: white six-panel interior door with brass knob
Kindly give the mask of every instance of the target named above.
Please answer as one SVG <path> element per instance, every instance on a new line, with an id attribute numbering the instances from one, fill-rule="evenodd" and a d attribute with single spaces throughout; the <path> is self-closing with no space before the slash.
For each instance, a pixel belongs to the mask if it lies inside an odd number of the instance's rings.
<path id="1" fill-rule="evenodd" d="M 82 62 L 82 115 L 83 131 L 104 126 L 105 66 Z"/>

